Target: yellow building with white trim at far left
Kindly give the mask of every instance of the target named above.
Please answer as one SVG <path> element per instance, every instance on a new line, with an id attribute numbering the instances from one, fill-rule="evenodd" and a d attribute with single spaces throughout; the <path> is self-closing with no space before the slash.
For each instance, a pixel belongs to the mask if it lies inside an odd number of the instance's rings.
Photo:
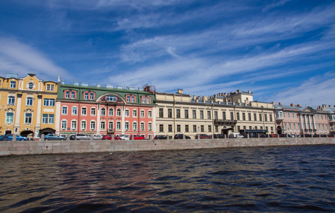
<path id="1" fill-rule="evenodd" d="M 57 82 L 39 80 L 35 74 L 0 77 L 0 134 L 16 133 L 38 138 L 55 133 Z"/>

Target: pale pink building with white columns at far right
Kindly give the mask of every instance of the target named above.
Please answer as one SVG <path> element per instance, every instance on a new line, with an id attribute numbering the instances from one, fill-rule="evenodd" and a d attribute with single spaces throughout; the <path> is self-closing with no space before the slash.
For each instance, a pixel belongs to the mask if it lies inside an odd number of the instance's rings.
<path id="1" fill-rule="evenodd" d="M 330 119 L 332 118 L 331 113 L 320 107 L 313 109 L 302 107 L 300 104 L 285 106 L 281 102 L 274 106 L 278 134 L 327 134 L 330 126 L 334 125 L 334 120 Z"/>

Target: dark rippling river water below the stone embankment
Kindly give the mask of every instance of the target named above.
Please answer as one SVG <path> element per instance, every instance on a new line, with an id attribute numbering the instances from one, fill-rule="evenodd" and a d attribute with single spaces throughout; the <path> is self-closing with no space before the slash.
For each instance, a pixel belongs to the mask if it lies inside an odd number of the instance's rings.
<path id="1" fill-rule="evenodd" d="M 3 157 L 0 212 L 335 212 L 335 146 Z"/>

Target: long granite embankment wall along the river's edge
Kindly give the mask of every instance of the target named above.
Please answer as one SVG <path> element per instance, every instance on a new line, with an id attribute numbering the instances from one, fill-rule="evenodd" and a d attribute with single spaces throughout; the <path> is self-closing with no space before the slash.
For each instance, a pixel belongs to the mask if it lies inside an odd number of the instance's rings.
<path id="1" fill-rule="evenodd" d="M 197 148 L 335 144 L 335 138 L 229 138 L 145 141 L 0 141 L 0 155 L 161 151 Z"/>

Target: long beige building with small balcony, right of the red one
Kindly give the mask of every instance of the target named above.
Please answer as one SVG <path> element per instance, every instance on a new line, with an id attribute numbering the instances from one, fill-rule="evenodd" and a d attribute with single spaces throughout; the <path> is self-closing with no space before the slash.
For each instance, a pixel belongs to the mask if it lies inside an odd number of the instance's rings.
<path id="1" fill-rule="evenodd" d="M 275 133 L 272 103 L 253 102 L 253 94 L 237 90 L 212 97 L 196 97 L 177 93 L 155 93 L 156 134 L 174 136 L 185 133 L 194 138 L 240 132 L 243 129 L 263 129 Z"/>

